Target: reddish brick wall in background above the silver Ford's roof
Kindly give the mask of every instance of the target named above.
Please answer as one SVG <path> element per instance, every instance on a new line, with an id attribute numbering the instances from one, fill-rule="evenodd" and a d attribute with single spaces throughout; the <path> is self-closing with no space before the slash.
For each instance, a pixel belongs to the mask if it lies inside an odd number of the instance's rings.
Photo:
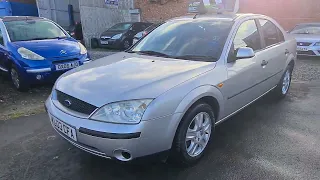
<path id="1" fill-rule="evenodd" d="M 164 5 L 135 0 L 142 21 L 162 21 L 187 14 L 188 0 L 171 0 Z M 289 30 L 297 23 L 320 22 L 320 0 L 240 0 L 241 13 L 264 14 Z"/>

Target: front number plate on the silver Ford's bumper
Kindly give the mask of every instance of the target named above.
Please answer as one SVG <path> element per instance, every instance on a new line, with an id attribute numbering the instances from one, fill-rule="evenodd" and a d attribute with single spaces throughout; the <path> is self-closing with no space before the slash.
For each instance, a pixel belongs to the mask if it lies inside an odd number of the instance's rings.
<path id="1" fill-rule="evenodd" d="M 77 141 L 77 134 L 76 134 L 75 128 L 67 125 L 66 123 L 64 123 L 54 117 L 51 117 L 51 123 L 52 123 L 53 128 L 60 131 L 61 133 L 63 133 L 67 137 L 69 137 L 70 139 Z"/>

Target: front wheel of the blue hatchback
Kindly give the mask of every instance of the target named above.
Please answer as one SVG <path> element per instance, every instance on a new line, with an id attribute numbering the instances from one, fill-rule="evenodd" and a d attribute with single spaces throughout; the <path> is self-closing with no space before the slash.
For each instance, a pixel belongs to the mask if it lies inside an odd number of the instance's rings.
<path id="1" fill-rule="evenodd" d="M 21 92 L 25 92 L 29 89 L 28 84 L 23 80 L 20 72 L 18 71 L 15 65 L 12 65 L 9 71 L 9 75 L 10 75 L 12 85 L 15 89 Z"/>

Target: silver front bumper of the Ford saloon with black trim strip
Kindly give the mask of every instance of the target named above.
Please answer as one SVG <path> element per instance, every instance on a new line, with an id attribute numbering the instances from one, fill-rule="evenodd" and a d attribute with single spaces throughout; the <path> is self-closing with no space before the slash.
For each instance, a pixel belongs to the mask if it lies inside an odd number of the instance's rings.
<path id="1" fill-rule="evenodd" d="M 77 141 L 56 130 L 74 146 L 91 154 L 120 161 L 169 150 L 181 114 L 141 121 L 139 124 L 113 124 L 78 118 L 58 109 L 51 98 L 46 101 L 49 116 L 76 129 Z M 124 158 L 122 152 L 128 153 Z"/>

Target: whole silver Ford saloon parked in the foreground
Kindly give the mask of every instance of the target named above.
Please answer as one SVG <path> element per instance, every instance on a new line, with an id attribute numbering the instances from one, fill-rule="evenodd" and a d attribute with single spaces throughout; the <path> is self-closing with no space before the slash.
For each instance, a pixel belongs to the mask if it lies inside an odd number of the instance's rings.
<path id="1" fill-rule="evenodd" d="M 131 161 L 171 150 L 192 164 L 215 126 L 271 91 L 286 96 L 296 48 L 267 16 L 180 17 L 65 73 L 46 108 L 54 129 L 89 153 Z"/>

